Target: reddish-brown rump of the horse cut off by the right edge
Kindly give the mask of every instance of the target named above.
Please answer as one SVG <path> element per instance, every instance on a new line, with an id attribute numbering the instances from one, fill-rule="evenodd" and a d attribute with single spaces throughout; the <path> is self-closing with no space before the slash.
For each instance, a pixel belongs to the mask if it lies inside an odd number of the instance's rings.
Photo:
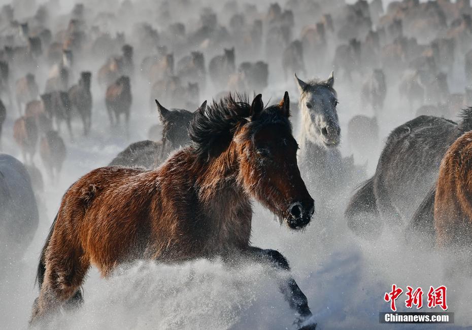
<path id="1" fill-rule="evenodd" d="M 472 244 L 472 131 L 459 137 L 441 162 L 434 202 L 436 244 Z"/>

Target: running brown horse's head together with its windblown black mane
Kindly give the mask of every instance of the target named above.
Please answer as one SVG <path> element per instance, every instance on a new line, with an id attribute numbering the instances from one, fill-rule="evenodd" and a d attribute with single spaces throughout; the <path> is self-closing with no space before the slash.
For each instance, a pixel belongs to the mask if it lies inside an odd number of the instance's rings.
<path id="1" fill-rule="evenodd" d="M 301 229 L 314 212 L 314 202 L 301 179 L 298 145 L 288 120 L 289 97 L 264 108 L 261 95 L 252 104 L 229 95 L 196 113 L 189 136 L 200 159 L 214 164 L 292 229 Z M 217 174 L 215 174 L 217 175 Z"/>

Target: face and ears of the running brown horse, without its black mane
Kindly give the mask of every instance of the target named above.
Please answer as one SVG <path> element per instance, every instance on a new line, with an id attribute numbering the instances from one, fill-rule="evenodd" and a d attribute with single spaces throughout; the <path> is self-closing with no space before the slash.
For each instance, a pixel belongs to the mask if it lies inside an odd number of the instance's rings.
<path id="1" fill-rule="evenodd" d="M 267 108 L 257 95 L 250 120 L 235 133 L 234 141 L 246 190 L 291 229 L 301 229 L 310 222 L 315 204 L 298 170 L 289 106 L 287 92 L 280 104 Z"/>

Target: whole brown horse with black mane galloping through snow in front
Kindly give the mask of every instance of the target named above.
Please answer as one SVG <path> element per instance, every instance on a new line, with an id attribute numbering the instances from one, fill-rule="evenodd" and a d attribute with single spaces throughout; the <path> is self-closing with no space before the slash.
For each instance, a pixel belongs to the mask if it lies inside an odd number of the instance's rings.
<path id="1" fill-rule="evenodd" d="M 281 253 L 251 246 L 250 237 L 251 198 L 292 230 L 306 227 L 314 212 L 296 162 L 289 104 L 287 92 L 267 108 L 260 94 L 252 104 L 229 95 L 198 109 L 189 127 L 192 143 L 159 168 L 103 167 L 75 182 L 41 254 L 31 322 L 80 303 L 91 265 L 107 277 L 136 259 L 172 263 L 221 256 L 231 262 L 243 255 L 288 272 Z M 286 276 L 279 284 L 297 325 L 313 329 L 295 280 Z"/>

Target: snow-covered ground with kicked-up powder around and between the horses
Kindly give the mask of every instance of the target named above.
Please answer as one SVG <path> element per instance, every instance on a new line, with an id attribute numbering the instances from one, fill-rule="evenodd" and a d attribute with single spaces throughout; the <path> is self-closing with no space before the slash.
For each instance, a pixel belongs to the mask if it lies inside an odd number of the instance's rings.
<path id="1" fill-rule="evenodd" d="M 2 4 L 4 1 L 0 2 Z M 208 61 L 207 61 L 208 62 Z M 239 60 L 237 60 L 239 62 Z M 93 70 L 102 63 L 92 63 Z M 458 64 L 450 76 L 451 90 L 463 85 L 463 72 Z M 316 68 L 325 78 L 331 67 Z M 271 75 L 274 73 L 271 71 Z M 298 98 L 293 81 L 283 82 L 269 77 L 270 86 L 263 99 L 278 101 L 288 90 L 292 100 Z M 106 166 L 113 157 L 133 141 L 147 138 L 147 130 L 158 123 L 156 112 L 149 111 L 149 86 L 139 82 L 131 86 L 133 105 L 130 138 L 109 127 L 103 100 L 104 91 L 93 79 L 93 124 L 88 137 L 71 142 L 63 134 L 68 157 L 58 184 L 52 185 L 45 175 L 39 155 L 35 163 L 43 172 L 40 227 L 23 259 L 0 264 L 0 329 L 26 328 L 33 300 L 39 255 L 60 199 L 65 190 L 81 175 Z M 359 84 L 344 83 L 335 76 L 335 89 L 340 98 L 339 117 L 346 132 L 354 114 L 373 115 L 360 107 Z M 42 80 L 41 80 L 42 81 Z M 397 86 L 389 86 L 386 110 L 381 123 L 381 140 L 391 129 L 413 118 L 406 104 L 396 97 Z M 394 92 L 392 92 L 394 91 Z M 211 99 L 213 93 L 205 98 Z M 203 98 L 202 100 L 204 100 Z M 172 104 L 164 104 L 172 107 Z M 3 152 L 21 159 L 13 141 L 16 112 L 9 112 L 3 132 Z M 296 123 L 295 130 L 296 130 Z M 81 124 L 74 122 L 75 132 Z M 76 133 L 76 134 L 77 134 Z M 380 141 L 381 143 L 381 141 Z M 348 141 L 341 146 L 349 156 Z M 367 153 L 368 174 L 373 174 L 379 151 Z M 360 183 L 360 181 L 359 181 Z M 316 187 L 310 187 L 315 190 Z M 342 192 L 349 195 L 352 191 Z M 335 198 L 333 198 L 335 200 Z M 315 200 L 315 203 L 317 201 Z M 323 205 L 317 204 L 317 209 Z M 286 256 L 300 288 L 308 297 L 313 319 L 323 329 L 442 329 L 444 324 L 379 324 L 379 312 L 389 311 L 385 292 L 395 283 L 406 288 L 447 286 L 447 303 L 455 313 L 455 324 L 447 328 L 472 328 L 472 271 L 470 260 L 460 254 L 444 255 L 413 247 L 402 234 L 386 230 L 374 242 L 366 242 L 352 234 L 343 217 L 343 206 L 335 205 L 330 216 L 315 214 L 310 226 L 292 232 L 280 226 L 274 216 L 254 204 L 252 243 L 279 250 Z M 247 264 L 228 269 L 221 262 L 196 260 L 182 265 L 162 265 L 138 261 L 124 265 L 109 279 L 100 278 L 92 268 L 84 284 L 85 304 L 77 311 L 62 312 L 48 327 L 72 329 L 285 329 L 292 328 L 294 316 L 278 291 L 276 277 L 260 265 Z M 397 300 L 399 311 L 406 311 L 404 294 Z M 425 299 L 425 298 L 424 298 Z M 430 311 L 423 307 L 422 311 Z"/>

